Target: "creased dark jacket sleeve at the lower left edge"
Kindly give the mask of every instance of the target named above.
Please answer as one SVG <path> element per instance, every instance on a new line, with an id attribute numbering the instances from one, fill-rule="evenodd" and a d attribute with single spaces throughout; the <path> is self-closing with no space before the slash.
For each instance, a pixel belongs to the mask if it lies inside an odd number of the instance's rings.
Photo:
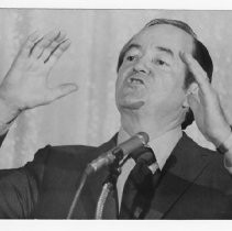
<path id="1" fill-rule="evenodd" d="M 40 198 L 49 146 L 38 150 L 32 162 L 0 170 L 0 218 L 33 218 Z"/>

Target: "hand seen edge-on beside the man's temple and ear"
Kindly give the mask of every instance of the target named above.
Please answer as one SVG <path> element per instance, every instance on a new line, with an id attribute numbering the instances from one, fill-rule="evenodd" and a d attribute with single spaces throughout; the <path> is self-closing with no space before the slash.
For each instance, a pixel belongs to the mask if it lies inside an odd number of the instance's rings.
<path id="1" fill-rule="evenodd" d="M 231 133 L 219 96 L 198 62 L 190 54 L 184 53 L 180 57 L 196 80 L 189 87 L 190 94 L 188 95 L 188 103 L 194 111 L 195 121 L 206 139 L 218 146 Z"/>

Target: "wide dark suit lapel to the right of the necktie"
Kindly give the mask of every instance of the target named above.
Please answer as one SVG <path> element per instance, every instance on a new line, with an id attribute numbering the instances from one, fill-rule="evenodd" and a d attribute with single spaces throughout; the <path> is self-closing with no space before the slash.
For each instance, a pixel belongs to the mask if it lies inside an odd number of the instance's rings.
<path id="1" fill-rule="evenodd" d="M 201 175 L 208 162 L 206 156 L 200 154 L 200 148 L 184 133 L 162 170 L 159 185 L 145 219 L 164 218 Z"/>

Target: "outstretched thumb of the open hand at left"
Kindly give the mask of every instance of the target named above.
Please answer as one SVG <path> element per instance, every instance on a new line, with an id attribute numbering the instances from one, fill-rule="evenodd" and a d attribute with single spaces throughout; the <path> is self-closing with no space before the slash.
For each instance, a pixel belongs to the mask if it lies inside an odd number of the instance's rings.
<path id="1" fill-rule="evenodd" d="M 62 97 L 65 97 L 78 89 L 78 86 L 76 84 L 63 84 L 59 85 L 58 87 L 55 87 L 51 89 L 48 94 L 48 100 L 53 101 L 56 99 L 59 99 Z"/>

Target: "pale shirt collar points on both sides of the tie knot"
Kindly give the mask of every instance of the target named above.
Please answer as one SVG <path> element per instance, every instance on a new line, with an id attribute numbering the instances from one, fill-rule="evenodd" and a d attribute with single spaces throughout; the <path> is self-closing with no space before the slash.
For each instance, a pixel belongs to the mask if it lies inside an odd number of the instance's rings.
<path id="1" fill-rule="evenodd" d="M 176 128 L 147 143 L 155 154 L 161 170 L 181 136 L 181 129 Z M 121 127 L 118 135 L 118 144 L 126 141 L 128 139 L 130 139 L 130 135 Z"/>

